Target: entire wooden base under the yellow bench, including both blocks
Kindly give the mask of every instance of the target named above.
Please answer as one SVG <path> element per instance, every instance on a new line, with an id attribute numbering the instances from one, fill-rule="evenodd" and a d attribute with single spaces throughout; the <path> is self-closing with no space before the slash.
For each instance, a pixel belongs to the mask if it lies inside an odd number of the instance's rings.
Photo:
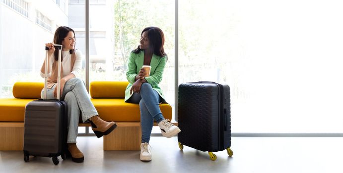
<path id="1" fill-rule="evenodd" d="M 140 122 L 119 122 L 117 128 L 103 136 L 104 150 L 140 150 Z M 178 123 L 173 123 L 178 125 Z M 79 124 L 90 127 L 90 124 Z M 154 126 L 157 126 L 154 123 Z M 22 151 L 24 123 L 0 122 L 0 151 Z"/>

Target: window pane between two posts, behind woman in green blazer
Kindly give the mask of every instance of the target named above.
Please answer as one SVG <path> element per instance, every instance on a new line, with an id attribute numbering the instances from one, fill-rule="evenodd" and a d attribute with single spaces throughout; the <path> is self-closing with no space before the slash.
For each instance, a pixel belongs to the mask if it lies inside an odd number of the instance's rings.
<path id="1" fill-rule="evenodd" d="M 168 62 L 160 87 L 174 105 L 174 0 L 107 0 L 89 6 L 90 81 L 127 81 L 127 61 L 145 27 L 161 28 Z"/>

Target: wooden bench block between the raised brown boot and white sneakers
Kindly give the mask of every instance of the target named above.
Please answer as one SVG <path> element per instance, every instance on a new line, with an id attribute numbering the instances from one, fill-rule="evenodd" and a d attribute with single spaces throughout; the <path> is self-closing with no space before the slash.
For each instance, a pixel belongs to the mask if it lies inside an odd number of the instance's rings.
<path id="1" fill-rule="evenodd" d="M 140 123 L 116 123 L 117 128 L 104 136 L 104 150 L 140 150 Z"/>

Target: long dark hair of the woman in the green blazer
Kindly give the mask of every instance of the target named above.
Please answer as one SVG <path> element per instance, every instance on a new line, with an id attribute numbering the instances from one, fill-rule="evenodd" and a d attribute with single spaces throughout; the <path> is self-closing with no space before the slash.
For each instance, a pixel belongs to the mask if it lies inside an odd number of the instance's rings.
<path id="1" fill-rule="evenodd" d="M 149 47 L 150 47 L 150 51 L 153 52 L 155 55 L 158 56 L 167 56 L 167 54 L 164 52 L 164 34 L 162 32 L 161 29 L 157 28 L 157 27 L 146 27 L 143 29 L 143 31 L 141 32 L 140 36 L 147 31 L 147 36 L 149 39 Z M 141 49 L 138 47 L 133 50 L 134 53 L 139 53 Z M 167 60 L 168 60 L 168 56 L 167 56 Z"/>

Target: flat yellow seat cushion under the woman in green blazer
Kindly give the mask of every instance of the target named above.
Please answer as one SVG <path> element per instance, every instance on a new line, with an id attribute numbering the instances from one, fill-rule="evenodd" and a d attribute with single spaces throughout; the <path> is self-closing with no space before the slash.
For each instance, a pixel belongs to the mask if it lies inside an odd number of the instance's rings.
<path id="1" fill-rule="evenodd" d="M 140 122 L 139 104 L 126 103 L 124 98 L 97 98 L 91 99 L 99 116 L 105 121 Z M 172 107 L 169 104 L 160 104 L 165 119 L 172 118 Z"/>

